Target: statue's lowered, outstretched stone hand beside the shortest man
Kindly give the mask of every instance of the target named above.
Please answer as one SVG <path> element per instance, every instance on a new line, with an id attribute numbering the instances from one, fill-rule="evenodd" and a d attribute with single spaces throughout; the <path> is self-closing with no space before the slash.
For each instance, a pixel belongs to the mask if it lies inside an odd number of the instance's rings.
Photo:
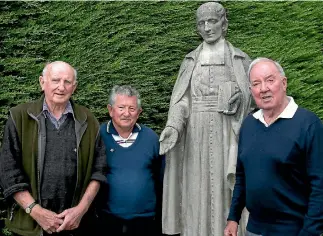
<path id="1" fill-rule="evenodd" d="M 178 139 L 178 132 L 173 127 L 167 126 L 160 135 L 159 142 L 159 154 L 164 155 L 166 152 L 171 150 Z"/>

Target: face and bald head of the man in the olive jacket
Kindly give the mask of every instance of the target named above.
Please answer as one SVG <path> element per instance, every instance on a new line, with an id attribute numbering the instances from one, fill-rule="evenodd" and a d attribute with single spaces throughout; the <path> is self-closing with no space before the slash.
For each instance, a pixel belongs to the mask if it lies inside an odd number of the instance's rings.
<path id="1" fill-rule="evenodd" d="M 65 63 L 49 65 L 39 82 L 49 106 L 64 106 L 76 89 L 74 70 Z"/>

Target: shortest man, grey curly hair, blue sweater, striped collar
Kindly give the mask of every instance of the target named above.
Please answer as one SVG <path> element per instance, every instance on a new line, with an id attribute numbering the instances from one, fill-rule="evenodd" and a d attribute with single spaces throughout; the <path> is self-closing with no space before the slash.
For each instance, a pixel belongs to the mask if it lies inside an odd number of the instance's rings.
<path id="1" fill-rule="evenodd" d="M 163 157 L 157 134 L 140 125 L 139 93 L 115 86 L 108 104 L 111 120 L 101 125 L 108 165 L 102 235 L 160 234 Z"/>

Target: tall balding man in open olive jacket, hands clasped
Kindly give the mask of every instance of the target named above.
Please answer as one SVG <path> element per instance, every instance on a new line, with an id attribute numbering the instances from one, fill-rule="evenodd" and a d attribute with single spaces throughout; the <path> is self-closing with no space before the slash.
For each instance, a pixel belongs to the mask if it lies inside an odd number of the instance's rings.
<path id="1" fill-rule="evenodd" d="M 77 85 L 72 66 L 47 64 L 39 82 L 44 95 L 10 109 L 4 129 L 6 226 L 15 235 L 86 235 L 89 208 L 106 181 L 99 123 L 71 100 Z"/>

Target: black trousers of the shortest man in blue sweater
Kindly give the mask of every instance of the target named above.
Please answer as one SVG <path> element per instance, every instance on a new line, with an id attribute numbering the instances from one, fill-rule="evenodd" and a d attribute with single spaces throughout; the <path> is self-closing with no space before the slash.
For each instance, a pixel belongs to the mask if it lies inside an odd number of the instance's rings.
<path id="1" fill-rule="evenodd" d="M 131 220 L 102 213 L 99 216 L 98 236 L 161 236 L 160 222 L 155 217 L 138 217 Z M 100 232 L 100 233 L 99 233 Z"/>

